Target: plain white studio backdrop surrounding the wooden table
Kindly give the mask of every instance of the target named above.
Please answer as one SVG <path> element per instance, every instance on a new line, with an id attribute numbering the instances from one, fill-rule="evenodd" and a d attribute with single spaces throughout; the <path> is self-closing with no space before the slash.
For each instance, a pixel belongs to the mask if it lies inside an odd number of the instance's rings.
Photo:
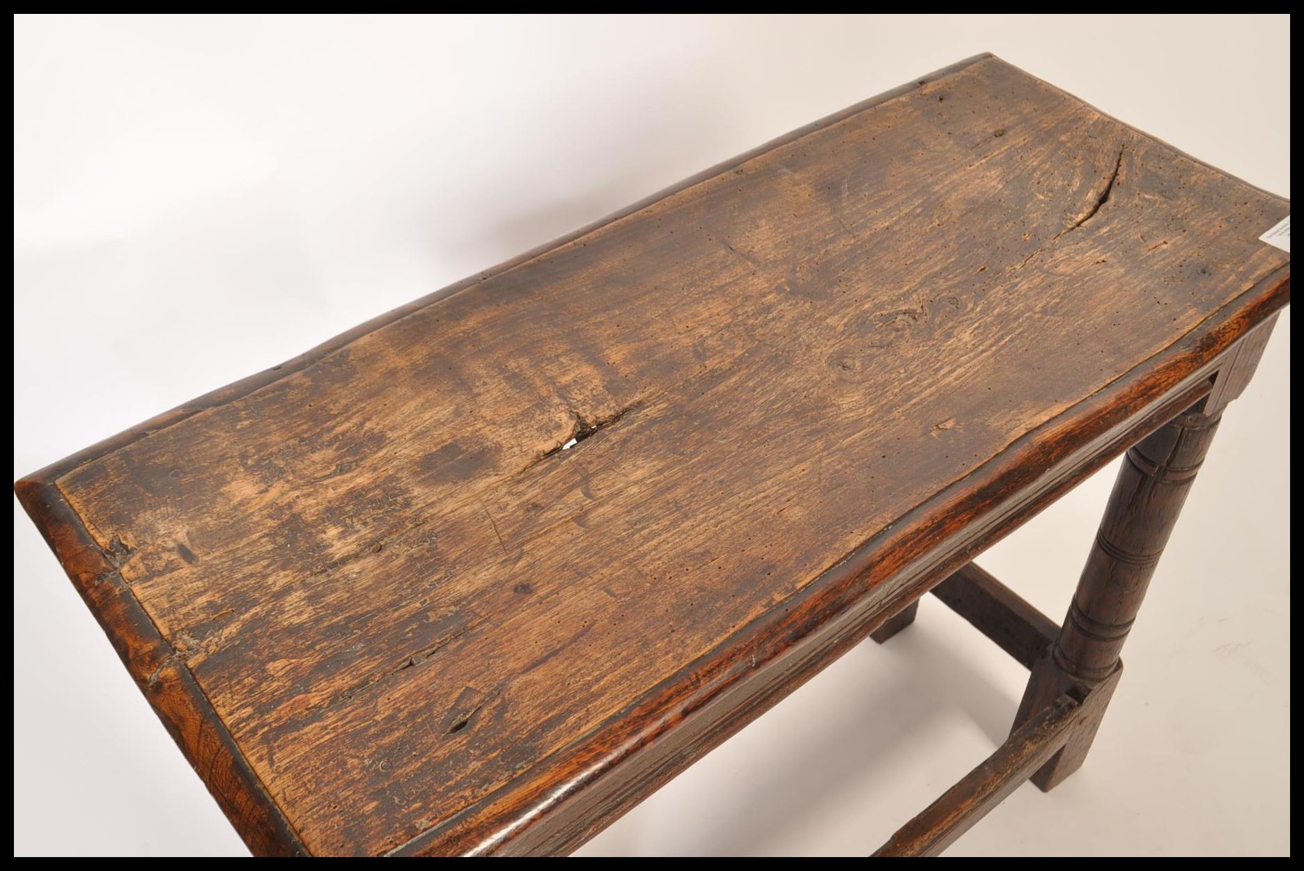
<path id="1" fill-rule="evenodd" d="M 992 51 L 1290 196 L 1290 17 L 18 17 L 14 476 L 789 129 Z M 964 854 L 1288 854 L 1290 313 L 1094 752 Z M 1114 468 L 979 559 L 1056 619 Z M 939 602 L 588 844 L 878 846 L 1025 672 Z M 244 846 L 14 503 L 14 853 Z"/>

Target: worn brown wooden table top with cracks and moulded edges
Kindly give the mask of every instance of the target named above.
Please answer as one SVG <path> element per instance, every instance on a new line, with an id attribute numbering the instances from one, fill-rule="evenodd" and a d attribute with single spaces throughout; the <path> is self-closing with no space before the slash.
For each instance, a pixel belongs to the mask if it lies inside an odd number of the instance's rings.
<path id="1" fill-rule="evenodd" d="M 254 851 L 566 849 L 1208 379 L 1288 211 L 982 56 L 17 492 Z"/>

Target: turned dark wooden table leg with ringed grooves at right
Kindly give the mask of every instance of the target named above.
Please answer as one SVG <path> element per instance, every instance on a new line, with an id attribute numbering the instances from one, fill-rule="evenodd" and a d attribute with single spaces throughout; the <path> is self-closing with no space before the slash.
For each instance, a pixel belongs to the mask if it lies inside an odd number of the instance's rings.
<path id="1" fill-rule="evenodd" d="M 1132 447 L 1114 484 L 1068 615 L 1050 649 L 1033 666 L 1015 729 L 1060 694 L 1095 699 L 1090 717 L 1034 776 L 1048 790 L 1082 764 L 1123 664 L 1119 652 L 1132 630 L 1196 472 L 1213 443 L 1228 402 L 1253 374 L 1271 322 L 1243 339 L 1219 370 L 1208 398 Z"/>

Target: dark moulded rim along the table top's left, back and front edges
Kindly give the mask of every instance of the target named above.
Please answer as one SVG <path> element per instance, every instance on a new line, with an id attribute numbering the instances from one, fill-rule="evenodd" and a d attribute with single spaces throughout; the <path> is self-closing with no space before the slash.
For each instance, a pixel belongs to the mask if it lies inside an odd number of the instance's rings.
<path id="1" fill-rule="evenodd" d="M 145 424 L 48 465 L 16 484 L 23 507 L 59 557 L 78 592 L 104 627 L 119 656 L 170 733 L 205 778 L 223 811 L 258 854 L 301 854 L 303 844 L 214 715 L 202 690 L 179 664 L 176 652 L 121 585 L 102 584 L 116 570 L 111 554 L 89 536 L 53 481 L 73 468 L 167 428 L 205 408 L 220 406 L 297 372 L 359 336 L 430 303 L 502 274 L 532 258 L 634 214 L 678 190 L 711 179 L 754 155 L 792 142 L 865 108 L 908 93 L 990 57 L 979 55 L 911 83 L 815 121 L 752 151 L 698 173 L 600 222 L 536 248 L 463 282 L 374 318 L 273 369 L 215 390 Z M 1154 138 L 1154 137 L 1150 137 Z M 1197 160 L 1197 163 L 1200 163 Z M 1226 173 L 1224 173 L 1226 175 Z M 1166 351 L 1069 408 L 1042 430 L 1029 433 L 948 492 L 914 510 L 914 519 L 884 531 L 810 584 L 786 613 L 767 614 L 703 658 L 686 666 L 692 681 L 659 687 L 629 711 L 610 746 L 583 751 L 566 771 L 574 775 L 539 789 L 522 812 L 520 797 L 494 794 L 404 845 L 396 853 L 439 849 L 460 851 L 556 851 L 571 849 L 685 768 L 692 759 L 746 725 L 795 688 L 905 601 L 968 561 L 981 546 L 1004 535 L 1068 486 L 1134 439 L 1176 413 L 1183 403 L 1208 392 L 1223 355 L 1256 325 L 1290 300 L 1290 265 L 1266 276 L 1232 304 L 1201 322 Z M 1029 469 L 1052 469 L 1029 480 Z M 962 531 L 956 522 L 968 518 Z M 911 540 L 901 541 L 901 529 Z M 884 559 L 883 554 L 892 554 Z M 891 571 L 888 571 L 891 570 Z M 883 574 L 872 596 L 853 587 Z M 853 583 L 857 582 L 857 583 Z M 891 583 L 887 583 L 891 582 Z M 160 673 L 176 679 L 159 681 Z M 682 677 L 682 675 L 677 675 Z M 756 687 L 763 687 L 759 691 Z M 673 701 L 673 703 L 672 703 Z M 576 751 L 576 752 L 579 752 Z M 587 755 L 583 755 L 587 754 Z M 629 772 L 621 785 L 602 775 L 617 765 Z M 600 788 L 593 788 L 602 784 Z M 499 790 L 503 793 L 503 790 Z M 561 810 L 548 827 L 535 823 Z M 484 832 L 494 836 L 489 840 Z"/>

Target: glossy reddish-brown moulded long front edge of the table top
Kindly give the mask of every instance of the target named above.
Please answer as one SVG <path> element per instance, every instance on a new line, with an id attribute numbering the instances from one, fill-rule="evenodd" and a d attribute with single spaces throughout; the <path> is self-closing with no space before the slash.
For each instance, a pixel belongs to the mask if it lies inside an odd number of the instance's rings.
<path id="1" fill-rule="evenodd" d="M 685 761 L 672 756 L 648 764 L 640 763 L 640 758 L 656 758 L 660 745 L 666 743 L 670 735 L 691 731 L 695 712 L 739 691 L 746 686 L 746 678 L 758 669 L 776 666 L 785 658 L 811 656 L 810 648 L 818 644 L 822 627 L 862 605 L 871 597 L 871 591 L 878 591 L 882 608 L 871 610 L 866 623 L 872 628 L 876 614 L 889 612 L 902 591 L 909 592 L 911 583 L 925 578 L 926 572 L 915 568 L 953 540 L 958 514 L 974 514 L 975 505 L 985 506 L 985 512 L 995 512 L 995 501 L 1001 498 L 1000 493 L 1015 486 L 1012 481 L 1031 476 L 1033 485 L 1037 485 L 1060 459 L 1072 455 L 1081 445 L 1091 443 L 1093 438 L 1118 429 L 1129 416 L 1178 394 L 1189 394 L 1193 400 L 1208 392 L 1206 382 L 1202 392 L 1191 394 L 1196 386 L 1192 379 L 1213 376 L 1237 339 L 1290 304 L 1290 271 L 1287 261 L 1265 274 L 1253 287 L 1210 313 L 1141 365 L 1030 430 L 965 479 L 884 527 L 790 597 L 789 606 L 781 613 L 771 610 L 758 617 L 631 701 L 622 713 L 558 750 L 549 758 L 550 771 L 544 776 L 535 780 L 529 778 L 529 773 L 516 777 L 391 850 L 390 855 L 528 855 L 550 853 L 558 846 L 574 849 L 592 837 L 614 816 L 600 816 L 599 823 L 589 825 L 576 842 L 571 832 L 557 831 L 566 824 L 567 806 L 585 802 L 601 806 L 604 801 L 626 802 L 631 798 L 629 806 L 636 805 L 645 793 L 638 794 L 636 789 L 627 786 L 613 790 L 608 775 L 627 764 L 639 771 L 642 780 L 653 789 L 673 777 L 691 759 Z M 1162 422 L 1155 421 L 1155 425 Z M 888 585 L 887 578 L 895 580 L 898 576 L 901 584 L 879 589 Z M 815 621 L 811 613 L 823 617 Z M 795 688 L 808 677 L 798 677 L 797 683 L 785 690 Z M 692 759 L 763 713 L 786 691 L 776 695 L 773 687 L 762 687 L 758 690 L 762 696 L 759 704 L 742 705 L 742 721 L 730 725 L 722 734 L 682 738 L 696 742 Z M 537 771 L 537 767 L 531 771 Z M 591 798 L 601 793 L 608 795 Z M 557 820 L 556 827 L 549 824 L 553 820 Z"/>

